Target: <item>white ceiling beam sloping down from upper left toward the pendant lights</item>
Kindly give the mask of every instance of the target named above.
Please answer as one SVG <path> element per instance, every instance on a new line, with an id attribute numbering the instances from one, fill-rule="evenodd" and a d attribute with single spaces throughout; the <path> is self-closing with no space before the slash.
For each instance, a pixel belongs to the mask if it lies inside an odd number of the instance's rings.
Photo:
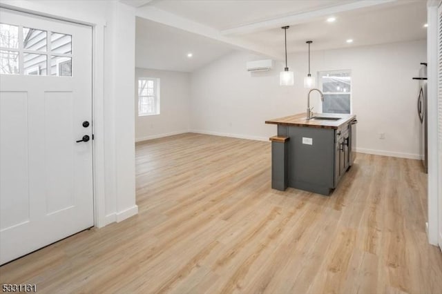
<path id="1" fill-rule="evenodd" d="M 191 21 L 184 17 L 180 17 L 171 12 L 166 12 L 154 6 L 144 6 L 137 8 L 135 10 L 135 15 L 137 17 L 142 17 L 157 23 L 162 23 L 166 26 L 171 26 L 180 30 L 185 30 L 187 32 L 192 32 L 196 35 L 202 35 L 204 37 L 213 39 L 215 41 L 220 41 L 222 43 L 227 43 L 232 46 L 232 48 L 247 50 L 254 52 L 258 55 L 265 55 L 276 60 L 282 60 L 283 57 L 279 52 L 273 51 L 263 51 L 261 48 L 256 46 L 256 44 L 244 41 L 237 37 L 227 37 L 220 33 L 219 30 L 215 30 L 209 26 L 204 26 L 201 23 Z"/>

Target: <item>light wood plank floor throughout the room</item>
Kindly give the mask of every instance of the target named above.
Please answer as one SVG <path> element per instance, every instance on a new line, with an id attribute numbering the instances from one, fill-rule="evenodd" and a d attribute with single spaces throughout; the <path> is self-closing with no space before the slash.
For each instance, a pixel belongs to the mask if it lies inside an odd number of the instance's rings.
<path id="1" fill-rule="evenodd" d="M 331 197 L 270 188 L 270 144 L 137 145 L 140 214 L 0 268 L 39 293 L 442 293 L 420 162 L 358 154 Z"/>

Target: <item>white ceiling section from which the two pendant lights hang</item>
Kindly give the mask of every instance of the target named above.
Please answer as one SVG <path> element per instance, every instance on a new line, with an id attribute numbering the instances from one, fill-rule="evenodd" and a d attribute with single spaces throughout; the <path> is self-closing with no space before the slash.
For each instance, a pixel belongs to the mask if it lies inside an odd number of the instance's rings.
<path id="1" fill-rule="evenodd" d="M 425 1 L 416 1 L 407 5 L 333 14 L 336 17 L 334 23 L 327 23 L 326 17 L 320 17 L 290 26 L 287 30 L 287 51 L 307 51 L 307 40 L 313 41 L 311 50 L 329 50 L 425 39 L 427 30 L 423 24 L 426 14 Z M 276 50 L 280 55 L 284 53 L 284 30 L 281 28 L 252 32 L 242 35 L 242 39 L 259 44 L 263 50 Z M 354 42 L 346 43 L 347 39 Z"/>

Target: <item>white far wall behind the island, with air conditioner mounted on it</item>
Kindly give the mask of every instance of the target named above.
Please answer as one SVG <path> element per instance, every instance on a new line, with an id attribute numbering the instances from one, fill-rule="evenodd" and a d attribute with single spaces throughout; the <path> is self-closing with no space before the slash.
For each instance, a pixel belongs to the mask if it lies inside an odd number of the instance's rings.
<path id="1" fill-rule="evenodd" d="M 305 112 L 307 54 L 289 55 L 295 86 L 279 86 L 282 63 L 269 72 L 250 74 L 245 63 L 264 57 L 235 52 L 193 72 L 191 129 L 200 133 L 267 140 L 276 126 L 264 121 Z M 361 152 L 419 157 L 418 82 L 426 62 L 426 41 L 390 43 L 311 52 L 311 72 L 352 70 L 352 108 L 358 117 Z M 320 109 L 318 96 L 311 105 Z M 385 139 L 378 139 L 385 133 Z"/>

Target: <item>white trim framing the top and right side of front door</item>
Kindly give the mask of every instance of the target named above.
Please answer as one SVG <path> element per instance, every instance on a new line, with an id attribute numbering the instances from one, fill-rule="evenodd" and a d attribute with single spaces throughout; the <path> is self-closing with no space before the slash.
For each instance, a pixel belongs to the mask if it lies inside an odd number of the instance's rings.
<path id="1" fill-rule="evenodd" d="M 59 19 L 73 23 L 81 23 L 91 26 L 93 29 L 93 81 L 92 81 L 92 99 L 93 99 L 93 197 L 94 197 L 94 223 L 97 228 L 106 226 L 105 205 L 106 193 L 115 195 L 115 187 L 113 185 L 106 186 L 104 162 L 115 162 L 113 155 L 108 155 L 105 159 L 104 146 L 106 145 L 104 138 L 104 27 L 106 21 L 104 19 L 90 18 L 87 15 L 72 15 L 71 12 L 66 14 L 65 11 L 58 11 L 41 3 L 31 3 L 29 1 L 10 1 L 4 0 L 0 3 L 0 7 L 19 12 L 26 12 L 38 16 Z M 113 126 L 106 126 L 113 128 Z M 114 144 L 114 142 L 110 142 Z"/>

